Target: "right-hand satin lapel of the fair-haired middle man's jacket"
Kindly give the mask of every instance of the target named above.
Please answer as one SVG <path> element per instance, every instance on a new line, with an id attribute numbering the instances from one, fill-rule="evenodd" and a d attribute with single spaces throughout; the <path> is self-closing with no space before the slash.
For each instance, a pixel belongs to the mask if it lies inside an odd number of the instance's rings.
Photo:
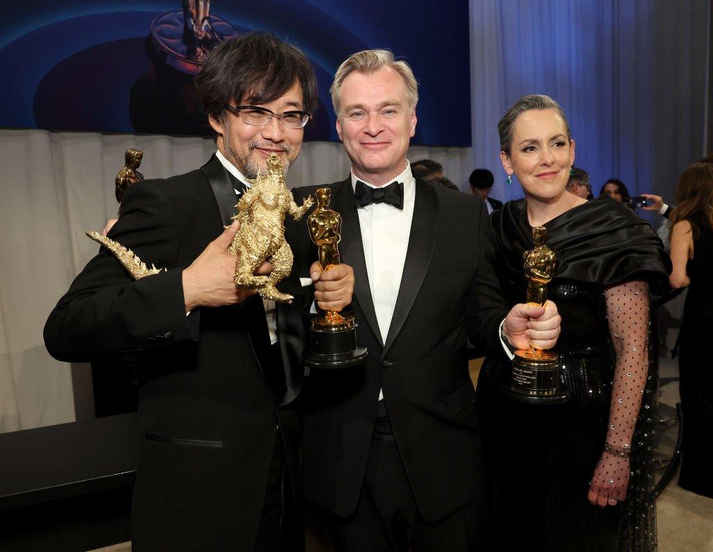
<path id="1" fill-rule="evenodd" d="M 438 195 L 431 185 L 416 180 L 416 203 L 411 221 L 409 247 L 406 250 L 404 275 L 401 276 L 399 297 L 396 297 L 394 315 L 391 317 L 389 335 L 384 344 L 384 354 L 389 352 L 394 340 L 404 327 L 404 322 L 414 306 L 431 265 L 436 233 L 438 232 Z"/>

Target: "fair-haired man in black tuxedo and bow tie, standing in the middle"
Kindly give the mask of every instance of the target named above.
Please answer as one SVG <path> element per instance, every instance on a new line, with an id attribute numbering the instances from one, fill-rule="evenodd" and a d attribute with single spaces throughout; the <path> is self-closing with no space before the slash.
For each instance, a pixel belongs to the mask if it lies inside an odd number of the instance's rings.
<path id="1" fill-rule="evenodd" d="M 337 71 L 332 101 L 352 173 L 328 186 L 369 356 L 305 379 L 307 498 L 327 514 L 337 552 L 476 550 L 486 485 L 466 317 L 483 344 L 506 354 L 501 335 L 514 347 L 551 347 L 559 316 L 551 304 L 508 312 L 484 203 L 414 178 L 406 151 L 418 91 L 406 63 L 383 50 L 354 54 Z M 289 224 L 288 240 L 304 272 L 316 247 L 302 225 Z"/>

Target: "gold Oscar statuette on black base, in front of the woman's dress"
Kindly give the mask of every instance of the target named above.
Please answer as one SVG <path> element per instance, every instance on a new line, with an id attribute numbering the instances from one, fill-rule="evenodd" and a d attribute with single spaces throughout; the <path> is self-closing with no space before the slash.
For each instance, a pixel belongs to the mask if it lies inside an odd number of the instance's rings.
<path id="1" fill-rule="evenodd" d="M 555 252 L 545 244 L 547 228 L 533 227 L 535 247 L 525 251 L 524 269 L 528 280 L 525 301 L 528 305 L 544 307 L 547 284 L 555 274 Z M 511 384 L 506 393 L 519 402 L 558 404 L 569 398 L 567 389 L 560 386 L 560 356 L 553 351 L 530 347 L 515 351 Z"/>

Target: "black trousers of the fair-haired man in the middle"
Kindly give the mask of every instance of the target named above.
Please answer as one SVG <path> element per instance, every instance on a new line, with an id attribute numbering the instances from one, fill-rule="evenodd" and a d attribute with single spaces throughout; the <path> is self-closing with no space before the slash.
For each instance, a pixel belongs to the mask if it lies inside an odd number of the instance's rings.
<path id="1" fill-rule="evenodd" d="M 377 420 L 364 484 L 349 518 L 327 516 L 336 552 L 486 551 L 480 501 L 429 523 L 419 514 L 388 421 Z M 434 474 L 438 477 L 438 474 Z"/>

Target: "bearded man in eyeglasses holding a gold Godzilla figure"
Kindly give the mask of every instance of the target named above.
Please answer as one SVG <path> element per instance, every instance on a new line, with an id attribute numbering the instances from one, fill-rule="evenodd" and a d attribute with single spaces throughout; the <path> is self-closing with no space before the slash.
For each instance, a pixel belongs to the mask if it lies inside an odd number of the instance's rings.
<path id="1" fill-rule="evenodd" d="M 102 249 L 51 313 L 45 341 L 66 361 L 140 355 L 135 552 L 299 550 L 301 312 L 236 287 L 226 248 L 248 179 L 271 153 L 285 167 L 297 158 L 317 83 L 301 51 L 262 33 L 217 46 L 195 83 L 217 151 L 198 170 L 133 185 L 108 234 L 167 270 L 133 281 Z M 310 273 L 314 287 L 280 285 L 296 304 L 327 287 L 320 307 L 351 302 L 347 265 Z"/>

